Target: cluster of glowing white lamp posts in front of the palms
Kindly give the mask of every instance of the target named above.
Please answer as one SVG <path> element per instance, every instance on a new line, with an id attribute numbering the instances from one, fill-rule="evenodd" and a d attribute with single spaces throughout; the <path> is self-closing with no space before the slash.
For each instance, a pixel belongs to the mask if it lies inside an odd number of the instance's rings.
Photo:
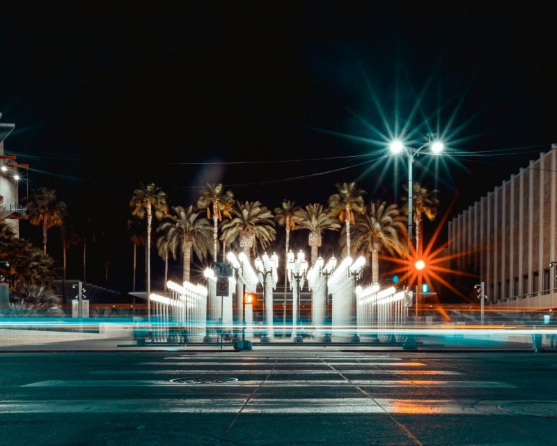
<path id="1" fill-rule="evenodd" d="M 331 258 L 327 264 L 318 260 L 315 268 L 307 269 L 304 254 L 300 253 L 297 258 L 293 254 L 289 256 L 290 286 L 292 289 L 292 338 L 296 342 L 303 341 L 301 336 L 302 326 L 300 321 L 300 291 L 307 280 L 308 288 L 312 291 L 312 325 L 315 335 L 324 341 L 330 341 L 331 332 L 340 338 L 349 338 L 352 342 L 358 342 L 360 334 L 377 339 L 377 330 L 383 328 L 388 332 L 394 325 L 402 325 L 407 316 L 407 305 L 404 303 L 407 297 L 404 292 L 397 293 L 394 287 L 380 290 L 377 284 L 362 289 L 357 285 L 361 274 L 361 268 L 365 263 L 363 257 L 356 261 L 345 258 L 338 268 L 336 259 Z M 242 256 L 240 256 L 242 259 Z M 237 305 L 236 314 L 233 314 L 233 301 L 231 293 L 218 300 L 216 294 L 217 277 L 212 270 L 207 269 L 207 286 L 194 285 L 185 282 L 182 285 L 168 282 L 169 297 L 151 294 L 152 307 L 154 310 L 152 330 L 155 341 L 167 341 L 173 337 L 180 336 L 183 341 L 198 341 L 202 335 L 203 341 L 210 342 L 210 330 L 235 331 L 237 340 L 240 340 L 242 327 L 242 341 L 245 337 L 253 337 L 253 305 L 243 302 L 242 297 L 253 295 L 253 291 L 244 292 L 247 287 L 255 290 L 257 281 L 265 281 L 265 323 L 262 324 L 262 337 L 274 336 L 272 320 L 272 289 L 276 286 L 276 265 L 278 261 L 264 257 L 261 259 L 261 271 L 270 270 L 267 275 L 256 275 L 251 270 L 246 257 L 242 262 L 233 262 L 235 265 L 235 277 L 229 277 L 228 283 L 236 290 L 242 289 L 240 302 Z M 259 262 L 257 262 L 259 263 Z M 267 267 L 263 265 L 267 264 Z M 251 270 L 251 272 L 250 272 Z M 264 292 L 265 294 L 265 292 Z M 334 302 L 327 305 L 327 297 Z M 329 313 L 328 309 L 331 309 Z M 240 313 L 240 310 L 242 313 Z M 239 316 L 241 314 L 242 316 Z M 236 323 L 234 323 L 236 318 Z M 220 321 L 217 326 L 211 327 L 209 321 Z M 240 325 L 241 324 L 241 325 Z M 370 328 L 375 327 L 375 334 Z M 283 327 L 285 330 L 285 327 Z M 269 339 L 267 339 L 268 341 Z M 262 339 L 265 342 L 265 339 Z"/>

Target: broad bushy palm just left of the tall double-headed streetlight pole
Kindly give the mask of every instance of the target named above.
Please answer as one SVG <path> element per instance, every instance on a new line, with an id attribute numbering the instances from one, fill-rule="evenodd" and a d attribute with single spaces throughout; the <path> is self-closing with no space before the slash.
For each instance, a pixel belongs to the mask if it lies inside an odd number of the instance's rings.
<path id="1" fill-rule="evenodd" d="M 371 252 L 372 283 L 379 283 L 379 252 L 386 248 L 390 254 L 402 252 L 404 243 L 405 218 L 396 204 L 386 201 L 372 201 L 369 210 L 356 218 L 354 226 L 354 247 L 367 248 Z"/>

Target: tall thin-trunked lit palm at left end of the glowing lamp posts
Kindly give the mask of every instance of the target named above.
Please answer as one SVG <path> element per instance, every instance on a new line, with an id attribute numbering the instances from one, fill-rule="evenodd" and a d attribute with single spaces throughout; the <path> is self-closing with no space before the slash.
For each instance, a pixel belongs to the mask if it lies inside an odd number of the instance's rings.
<path id="1" fill-rule="evenodd" d="M 148 321 L 151 322 L 151 227 L 152 214 L 155 210 L 155 217 L 161 220 L 168 213 L 166 204 L 166 194 L 155 183 L 150 183 L 147 187 L 141 184 L 141 189 L 134 190 L 132 199 L 130 199 L 130 208 L 132 215 L 143 220 L 147 217 L 147 314 Z"/>

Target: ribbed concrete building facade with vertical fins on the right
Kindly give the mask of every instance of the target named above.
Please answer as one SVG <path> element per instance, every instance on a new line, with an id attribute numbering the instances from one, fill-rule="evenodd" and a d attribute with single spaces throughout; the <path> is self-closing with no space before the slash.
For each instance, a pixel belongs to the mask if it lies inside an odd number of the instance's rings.
<path id="1" fill-rule="evenodd" d="M 557 308 L 557 144 L 448 223 L 452 268 L 501 309 Z"/>

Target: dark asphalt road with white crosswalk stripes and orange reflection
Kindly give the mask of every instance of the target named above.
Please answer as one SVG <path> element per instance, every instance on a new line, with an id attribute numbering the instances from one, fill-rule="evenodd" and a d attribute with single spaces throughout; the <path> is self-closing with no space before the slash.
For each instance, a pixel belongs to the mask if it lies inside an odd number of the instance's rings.
<path id="1" fill-rule="evenodd" d="M 557 445 L 557 354 L 0 353 L 0 445 Z"/>

